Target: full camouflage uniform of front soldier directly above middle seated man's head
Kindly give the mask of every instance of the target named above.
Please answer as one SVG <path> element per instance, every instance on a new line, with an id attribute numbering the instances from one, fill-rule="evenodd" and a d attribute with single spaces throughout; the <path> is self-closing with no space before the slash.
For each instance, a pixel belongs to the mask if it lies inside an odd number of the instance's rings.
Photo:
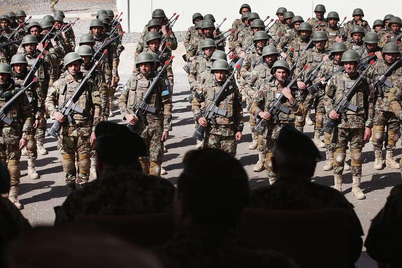
<path id="1" fill-rule="evenodd" d="M 213 74 L 212 74 L 213 75 Z M 195 94 L 191 102 L 191 110 L 194 114 L 195 122 L 202 117 L 201 103 L 205 102 L 208 106 L 213 101 L 215 94 L 222 88 L 215 78 L 212 82 L 206 82 Z M 223 94 L 225 97 L 219 104 L 219 108 L 227 111 L 227 116 L 217 115 L 217 125 L 208 125 L 205 131 L 204 148 L 221 149 L 232 155 L 236 155 L 235 134 L 243 130 L 243 108 L 242 97 L 239 88 L 231 83 Z M 217 104 L 218 105 L 218 104 Z"/>

